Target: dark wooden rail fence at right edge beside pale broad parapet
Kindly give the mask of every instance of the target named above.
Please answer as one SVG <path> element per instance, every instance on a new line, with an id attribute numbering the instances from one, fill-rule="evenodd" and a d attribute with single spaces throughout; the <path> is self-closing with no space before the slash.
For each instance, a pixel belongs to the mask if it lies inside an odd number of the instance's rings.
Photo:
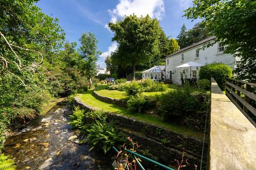
<path id="1" fill-rule="evenodd" d="M 256 94 L 252 92 L 255 88 L 255 83 L 230 78 L 226 81 L 226 95 L 254 125 L 251 117 L 256 116 Z"/>

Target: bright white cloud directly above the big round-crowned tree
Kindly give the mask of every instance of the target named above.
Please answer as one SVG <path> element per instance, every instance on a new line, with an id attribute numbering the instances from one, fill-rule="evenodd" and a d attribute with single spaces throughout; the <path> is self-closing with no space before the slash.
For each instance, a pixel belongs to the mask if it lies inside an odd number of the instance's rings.
<path id="1" fill-rule="evenodd" d="M 164 15 L 163 0 L 120 0 L 113 10 L 108 10 L 110 14 L 110 22 L 115 23 L 122 19 L 125 15 L 135 14 L 137 16 L 146 16 L 151 18 L 162 19 Z M 106 26 L 105 26 L 106 28 Z"/>

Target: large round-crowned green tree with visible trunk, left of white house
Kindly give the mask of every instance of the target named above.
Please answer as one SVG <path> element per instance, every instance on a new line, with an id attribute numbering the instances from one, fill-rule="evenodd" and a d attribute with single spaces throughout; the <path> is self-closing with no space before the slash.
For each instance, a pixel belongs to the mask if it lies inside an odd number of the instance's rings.
<path id="1" fill-rule="evenodd" d="M 133 14 L 126 16 L 124 20 L 109 23 L 109 28 L 114 32 L 112 40 L 118 43 L 111 60 L 123 67 L 131 66 L 135 79 L 136 66 L 151 61 L 159 54 L 159 22 L 151 19 L 149 15 L 138 18 Z"/>

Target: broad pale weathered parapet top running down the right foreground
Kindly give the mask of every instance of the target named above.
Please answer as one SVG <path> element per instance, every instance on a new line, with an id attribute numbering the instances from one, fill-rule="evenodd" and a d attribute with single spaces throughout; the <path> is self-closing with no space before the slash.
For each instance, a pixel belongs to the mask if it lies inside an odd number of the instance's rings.
<path id="1" fill-rule="evenodd" d="M 256 128 L 211 82 L 209 169 L 256 169 Z"/>

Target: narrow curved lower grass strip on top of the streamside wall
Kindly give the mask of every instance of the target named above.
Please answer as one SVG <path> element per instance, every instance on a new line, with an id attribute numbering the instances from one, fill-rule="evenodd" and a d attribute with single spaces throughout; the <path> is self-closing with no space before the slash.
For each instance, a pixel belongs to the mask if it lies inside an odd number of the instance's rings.
<path id="1" fill-rule="evenodd" d="M 109 91 L 115 91 L 115 90 L 109 90 Z M 79 94 L 79 98 L 86 103 L 87 105 L 90 105 L 94 108 L 102 109 L 107 112 L 122 114 L 125 116 L 136 118 L 137 120 L 145 121 L 150 124 L 156 124 L 158 126 L 162 126 L 163 128 L 169 129 L 172 132 L 182 133 L 184 135 L 188 135 L 191 137 L 195 137 L 197 139 L 202 139 L 203 134 L 200 132 L 192 131 L 190 129 L 187 129 L 183 126 L 177 125 L 177 124 L 170 124 L 167 122 L 164 122 L 161 120 L 160 117 L 154 116 L 154 115 L 148 115 L 148 114 L 140 114 L 140 113 L 129 113 L 127 112 L 127 109 L 124 107 L 119 107 L 113 104 L 107 104 L 103 101 L 100 101 L 92 96 L 92 90 L 88 90 L 84 94 Z"/>

